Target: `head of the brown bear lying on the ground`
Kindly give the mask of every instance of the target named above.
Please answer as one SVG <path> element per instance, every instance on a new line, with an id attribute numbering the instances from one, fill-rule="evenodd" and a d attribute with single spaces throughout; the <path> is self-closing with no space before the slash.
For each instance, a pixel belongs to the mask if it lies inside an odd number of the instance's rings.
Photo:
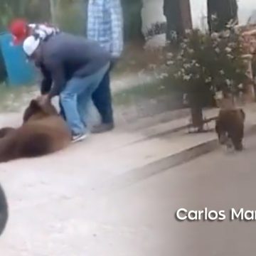
<path id="1" fill-rule="evenodd" d="M 31 100 L 23 114 L 23 122 L 25 123 L 30 120 L 38 120 L 53 115 L 58 115 L 58 112 L 50 102 L 42 104 L 38 100 Z"/>

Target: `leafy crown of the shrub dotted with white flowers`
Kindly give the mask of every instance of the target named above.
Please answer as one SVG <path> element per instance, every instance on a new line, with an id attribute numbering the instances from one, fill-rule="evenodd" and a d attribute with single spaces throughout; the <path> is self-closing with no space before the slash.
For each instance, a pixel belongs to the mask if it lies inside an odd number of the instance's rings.
<path id="1" fill-rule="evenodd" d="M 169 64 L 173 80 L 183 92 L 193 95 L 197 104 L 205 93 L 235 95 L 246 78 L 240 31 L 228 28 L 212 36 L 190 31 Z"/>

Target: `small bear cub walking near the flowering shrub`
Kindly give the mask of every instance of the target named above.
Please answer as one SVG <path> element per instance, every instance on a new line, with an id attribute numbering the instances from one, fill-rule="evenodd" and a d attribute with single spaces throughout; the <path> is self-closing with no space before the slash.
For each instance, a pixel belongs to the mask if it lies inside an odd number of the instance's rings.
<path id="1" fill-rule="evenodd" d="M 245 112 L 242 109 L 220 110 L 216 120 L 215 131 L 220 144 L 232 142 L 235 150 L 243 149 Z"/>

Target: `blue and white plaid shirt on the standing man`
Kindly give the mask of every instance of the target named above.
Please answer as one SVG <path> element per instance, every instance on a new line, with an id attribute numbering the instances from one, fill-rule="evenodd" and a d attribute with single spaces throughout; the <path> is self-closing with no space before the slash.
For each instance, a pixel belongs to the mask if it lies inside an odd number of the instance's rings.
<path id="1" fill-rule="evenodd" d="M 120 0 L 89 0 L 87 38 L 97 41 L 118 58 L 123 50 L 123 18 Z"/>

